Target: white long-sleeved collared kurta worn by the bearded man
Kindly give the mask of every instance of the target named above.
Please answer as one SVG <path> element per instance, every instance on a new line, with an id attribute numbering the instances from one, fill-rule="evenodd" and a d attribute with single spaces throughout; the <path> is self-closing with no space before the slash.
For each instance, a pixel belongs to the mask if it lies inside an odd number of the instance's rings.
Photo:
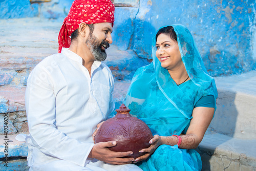
<path id="1" fill-rule="evenodd" d="M 66 48 L 42 60 L 29 75 L 25 95 L 30 170 L 134 167 L 88 158 L 97 124 L 114 110 L 113 89 L 112 73 L 99 61 L 93 63 L 90 76 L 82 58 Z"/>

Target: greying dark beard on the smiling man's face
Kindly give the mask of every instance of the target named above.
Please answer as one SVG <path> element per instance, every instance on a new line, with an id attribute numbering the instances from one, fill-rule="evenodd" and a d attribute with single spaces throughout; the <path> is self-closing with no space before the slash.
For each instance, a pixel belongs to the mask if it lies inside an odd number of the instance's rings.
<path id="1" fill-rule="evenodd" d="M 102 40 L 102 42 L 100 42 L 94 35 L 91 34 L 86 43 L 89 46 L 89 49 L 93 54 L 95 60 L 104 61 L 106 59 L 106 52 L 105 50 L 102 50 L 101 47 L 102 45 L 104 45 L 105 49 L 109 48 L 110 44 L 108 43 L 108 41 Z"/>

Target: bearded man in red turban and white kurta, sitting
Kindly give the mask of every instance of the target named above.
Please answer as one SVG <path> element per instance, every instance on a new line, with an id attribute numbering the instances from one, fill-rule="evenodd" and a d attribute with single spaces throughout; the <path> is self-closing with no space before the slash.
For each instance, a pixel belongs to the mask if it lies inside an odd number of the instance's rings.
<path id="1" fill-rule="evenodd" d="M 110 151 L 115 141 L 92 139 L 114 110 L 113 76 L 100 62 L 113 22 L 110 0 L 74 1 L 59 32 L 59 53 L 31 72 L 25 96 L 30 170 L 141 170 L 123 158 L 132 152 Z"/>

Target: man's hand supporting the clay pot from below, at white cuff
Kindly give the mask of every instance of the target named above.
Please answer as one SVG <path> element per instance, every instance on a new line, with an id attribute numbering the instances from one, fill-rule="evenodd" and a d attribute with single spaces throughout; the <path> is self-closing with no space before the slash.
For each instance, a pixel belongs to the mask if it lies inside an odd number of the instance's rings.
<path id="1" fill-rule="evenodd" d="M 109 147 L 116 146 L 116 141 L 99 142 L 96 143 L 90 154 L 89 158 L 95 158 L 110 164 L 130 164 L 134 158 L 123 158 L 132 155 L 133 152 L 113 152 Z"/>

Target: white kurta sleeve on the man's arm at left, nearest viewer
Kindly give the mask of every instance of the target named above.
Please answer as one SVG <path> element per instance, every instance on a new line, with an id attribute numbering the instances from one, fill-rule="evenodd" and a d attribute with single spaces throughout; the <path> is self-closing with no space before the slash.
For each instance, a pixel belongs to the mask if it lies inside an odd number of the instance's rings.
<path id="1" fill-rule="evenodd" d="M 28 78 L 25 95 L 30 141 L 41 153 L 84 166 L 94 143 L 80 142 L 57 130 L 55 96 L 51 73 L 37 66 Z"/>

